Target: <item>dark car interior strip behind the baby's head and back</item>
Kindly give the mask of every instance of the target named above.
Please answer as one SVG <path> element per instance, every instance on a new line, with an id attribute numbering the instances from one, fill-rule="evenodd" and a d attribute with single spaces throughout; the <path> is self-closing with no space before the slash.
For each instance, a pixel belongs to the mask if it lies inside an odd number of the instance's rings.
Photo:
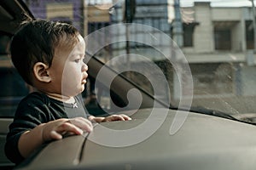
<path id="1" fill-rule="evenodd" d="M 6 134 L 9 132 L 9 124 L 12 122 L 12 116 L 15 114 L 15 105 L 18 105 L 20 99 L 28 93 L 24 84 L 19 84 L 20 76 L 12 66 L 7 51 L 11 36 L 15 33 L 26 15 L 32 16 L 26 5 L 22 1 L 1 1 L 0 2 L 0 39 L 4 43 L 1 49 L 1 97 L 0 97 L 0 169 L 11 169 L 14 164 L 4 154 L 4 144 Z M 5 75 L 5 77 L 4 77 Z M 6 75 L 12 75 L 8 78 Z M 7 84 L 9 84 L 7 86 Z M 20 89 L 15 91 L 14 89 Z M 15 93 L 15 94 L 14 94 Z"/>

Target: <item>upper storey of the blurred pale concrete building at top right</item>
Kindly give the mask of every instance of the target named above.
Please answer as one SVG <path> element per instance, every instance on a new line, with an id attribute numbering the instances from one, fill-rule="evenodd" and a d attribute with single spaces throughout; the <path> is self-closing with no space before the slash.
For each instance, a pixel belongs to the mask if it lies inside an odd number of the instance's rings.
<path id="1" fill-rule="evenodd" d="M 211 3 L 201 2 L 192 8 L 183 8 L 183 11 L 194 11 L 194 22 L 183 23 L 183 52 L 190 54 L 188 59 L 191 62 L 197 59 L 200 62 L 234 60 L 218 54 L 203 56 L 225 51 L 235 53 L 236 59 L 241 59 L 242 53 L 253 48 L 251 8 L 212 8 Z"/>

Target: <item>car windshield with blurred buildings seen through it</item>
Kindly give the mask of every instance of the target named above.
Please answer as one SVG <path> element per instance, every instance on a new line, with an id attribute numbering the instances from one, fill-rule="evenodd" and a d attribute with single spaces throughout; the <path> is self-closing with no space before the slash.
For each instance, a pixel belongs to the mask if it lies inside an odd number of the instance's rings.
<path id="1" fill-rule="evenodd" d="M 256 113 L 256 24 L 251 1 L 24 3 L 35 18 L 76 26 L 84 36 L 88 54 L 171 108 L 178 108 L 183 101 L 183 106 L 232 116 Z M 3 38 L 0 41 L 6 42 Z M 7 46 L 1 44 L 1 48 Z M 7 54 L 3 53 L 1 59 L 6 60 Z M 2 67 L 3 72 L 13 71 L 10 64 Z M 15 77 L 21 82 L 16 73 Z M 93 78 L 89 79 L 84 98 L 102 95 L 99 103 L 108 108 L 104 92 L 95 86 Z M 15 94 L 17 99 L 32 91 L 22 86 L 24 89 Z M 6 93 L 1 96 L 2 103 L 14 96 Z"/>

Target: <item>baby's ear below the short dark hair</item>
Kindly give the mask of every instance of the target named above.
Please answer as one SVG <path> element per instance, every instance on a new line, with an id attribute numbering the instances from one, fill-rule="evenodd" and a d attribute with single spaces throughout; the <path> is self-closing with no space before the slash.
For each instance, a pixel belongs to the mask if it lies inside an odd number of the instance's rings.
<path id="1" fill-rule="evenodd" d="M 48 74 L 48 65 L 45 65 L 42 62 L 38 62 L 34 65 L 33 71 L 35 77 L 38 79 L 40 82 L 50 82 L 51 78 L 49 77 Z"/>

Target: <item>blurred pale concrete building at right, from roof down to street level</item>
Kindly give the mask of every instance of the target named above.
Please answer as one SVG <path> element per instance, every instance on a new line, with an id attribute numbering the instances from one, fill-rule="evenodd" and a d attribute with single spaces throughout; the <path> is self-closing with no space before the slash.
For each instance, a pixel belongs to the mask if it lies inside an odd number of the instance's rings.
<path id="1" fill-rule="evenodd" d="M 194 76 L 195 97 L 255 94 L 246 90 L 256 80 L 252 8 L 198 2 L 182 11 L 194 20 L 183 22 L 181 48 Z"/>

